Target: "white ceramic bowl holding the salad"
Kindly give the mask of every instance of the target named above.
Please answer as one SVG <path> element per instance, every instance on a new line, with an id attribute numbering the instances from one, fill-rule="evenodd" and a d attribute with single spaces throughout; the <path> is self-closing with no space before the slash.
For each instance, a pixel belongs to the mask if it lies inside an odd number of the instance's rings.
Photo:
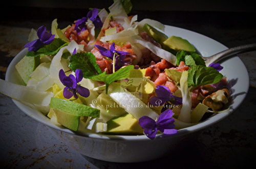
<path id="1" fill-rule="evenodd" d="M 165 33 L 168 36 L 175 35 L 187 39 L 204 57 L 227 49 L 226 46 L 211 38 L 185 29 L 166 26 Z M 27 49 L 24 49 L 12 60 L 7 69 L 6 81 L 23 84 L 23 81 L 15 69 L 15 65 L 26 53 Z M 249 89 L 249 76 L 245 65 L 239 57 L 232 57 L 220 63 L 224 67 L 221 73 L 227 77 L 227 80 L 234 82 L 230 96 L 230 109 L 222 113 L 214 114 L 195 126 L 178 130 L 176 135 L 166 136 L 158 134 L 155 140 L 150 140 L 145 135 L 120 136 L 94 133 L 83 133 L 81 135 L 69 129 L 59 128 L 50 123 L 50 119 L 40 112 L 16 100 L 13 100 L 13 102 L 27 115 L 53 129 L 56 136 L 58 136 L 62 142 L 65 142 L 67 146 L 74 148 L 83 155 L 113 162 L 147 161 L 172 152 L 174 148 L 179 148 L 182 138 L 219 122 L 238 108 L 243 102 Z"/>

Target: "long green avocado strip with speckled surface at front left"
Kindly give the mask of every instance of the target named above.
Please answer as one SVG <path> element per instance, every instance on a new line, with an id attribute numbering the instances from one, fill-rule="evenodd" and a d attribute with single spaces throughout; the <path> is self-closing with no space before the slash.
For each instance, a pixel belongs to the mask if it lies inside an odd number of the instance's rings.
<path id="1" fill-rule="evenodd" d="M 51 98 L 50 108 L 55 108 L 75 115 L 83 115 L 97 118 L 99 118 L 100 115 L 99 109 L 59 98 Z"/>

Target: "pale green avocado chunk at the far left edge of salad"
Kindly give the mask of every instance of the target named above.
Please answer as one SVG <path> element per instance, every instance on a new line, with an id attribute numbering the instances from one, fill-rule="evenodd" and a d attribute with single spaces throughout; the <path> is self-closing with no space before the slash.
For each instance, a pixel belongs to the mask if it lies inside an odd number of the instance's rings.
<path id="1" fill-rule="evenodd" d="M 18 71 L 20 77 L 22 77 L 23 81 L 27 85 L 30 74 L 35 70 L 35 68 L 40 64 L 40 56 L 36 57 L 29 57 L 25 56 L 20 60 L 16 65 L 15 68 Z"/>

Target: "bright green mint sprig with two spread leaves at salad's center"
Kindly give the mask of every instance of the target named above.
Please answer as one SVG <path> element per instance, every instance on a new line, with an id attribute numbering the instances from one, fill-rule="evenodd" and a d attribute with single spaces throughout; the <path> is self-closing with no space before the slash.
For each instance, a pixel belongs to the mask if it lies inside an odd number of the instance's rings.
<path id="1" fill-rule="evenodd" d="M 120 68 L 119 70 L 115 71 L 114 74 L 106 74 L 106 71 L 104 71 L 103 74 L 100 74 L 98 76 L 94 76 L 91 79 L 95 81 L 101 81 L 104 82 L 106 85 L 106 94 L 108 94 L 108 88 L 109 85 L 117 80 L 122 80 L 130 76 L 130 70 L 134 68 L 134 65 L 129 65 Z"/>

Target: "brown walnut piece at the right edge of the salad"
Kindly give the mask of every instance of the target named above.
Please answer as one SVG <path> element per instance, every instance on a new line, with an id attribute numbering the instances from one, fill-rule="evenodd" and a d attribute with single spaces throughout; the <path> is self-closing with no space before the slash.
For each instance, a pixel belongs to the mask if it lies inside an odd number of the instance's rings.
<path id="1" fill-rule="evenodd" d="M 222 107 L 228 103 L 229 90 L 227 87 L 208 95 L 204 100 L 203 104 L 211 108 L 213 111 L 221 110 Z"/>

